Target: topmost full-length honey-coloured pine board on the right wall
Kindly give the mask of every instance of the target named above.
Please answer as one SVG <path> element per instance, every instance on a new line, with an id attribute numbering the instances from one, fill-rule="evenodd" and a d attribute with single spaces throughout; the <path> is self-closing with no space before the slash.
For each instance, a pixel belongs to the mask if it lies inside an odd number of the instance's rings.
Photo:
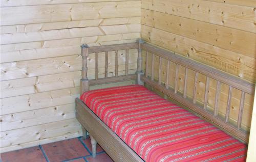
<path id="1" fill-rule="evenodd" d="M 256 33 L 255 6 L 238 6 L 202 0 L 142 0 L 141 7 Z"/>

